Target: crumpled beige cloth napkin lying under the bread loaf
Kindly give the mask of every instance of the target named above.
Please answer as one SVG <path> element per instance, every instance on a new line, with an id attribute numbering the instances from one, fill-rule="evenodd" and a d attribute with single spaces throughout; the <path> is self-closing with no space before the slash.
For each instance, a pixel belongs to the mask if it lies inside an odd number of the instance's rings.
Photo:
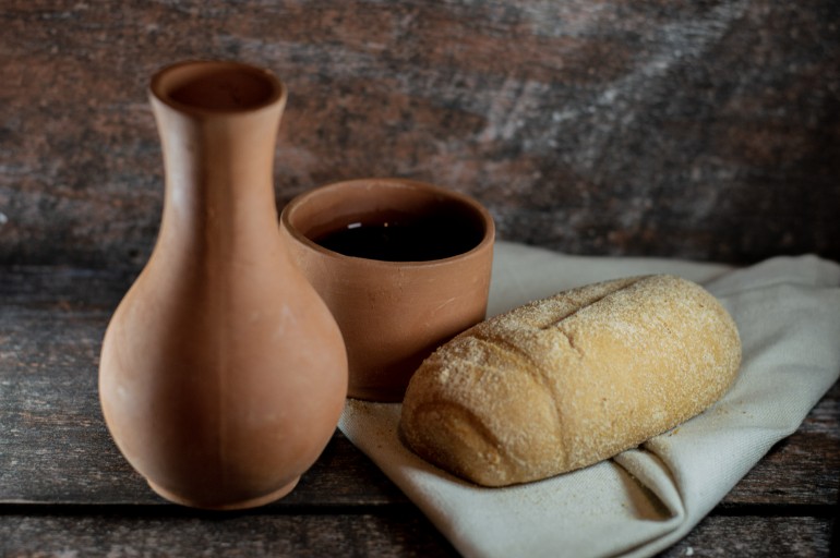
<path id="1" fill-rule="evenodd" d="M 685 536 L 840 375 L 840 266 L 813 256 L 753 267 L 573 257 L 499 243 L 489 314 L 579 284 L 671 272 L 718 296 L 744 361 L 715 407 L 612 460 L 545 481 L 482 488 L 397 438 L 399 404 L 348 400 L 339 424 L 468 557 L 649 556 Z"/>

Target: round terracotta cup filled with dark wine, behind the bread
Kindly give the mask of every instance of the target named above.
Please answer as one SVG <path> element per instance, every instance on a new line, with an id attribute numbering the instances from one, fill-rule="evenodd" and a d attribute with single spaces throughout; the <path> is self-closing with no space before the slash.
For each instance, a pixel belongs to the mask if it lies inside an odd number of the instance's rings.
<path id="1" fill-rule="evenodd" d="M 338 182 L 292 199 L 280 236 L 338 323 L 349 397 L 400 401 L 423 359 L 484 318 L 495 227 L 467 195 L 404 179 Z"/>

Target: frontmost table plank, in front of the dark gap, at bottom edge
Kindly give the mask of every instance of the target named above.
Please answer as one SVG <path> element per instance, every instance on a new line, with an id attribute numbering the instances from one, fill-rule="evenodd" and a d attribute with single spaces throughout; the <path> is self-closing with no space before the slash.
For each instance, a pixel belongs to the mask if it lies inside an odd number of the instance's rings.
<path id="1" fill-rule="evenodd" d="M 373 512 L 364 508 L 314 514 L 276 511 L 205 514 L 175 507 L 35 512 L 26 507 L 0 509 L 0 555 L 457 556 L 410 506 Z M 828 557 L 836 522 L 836 515 L 712 514 L 660 557 Z"/>

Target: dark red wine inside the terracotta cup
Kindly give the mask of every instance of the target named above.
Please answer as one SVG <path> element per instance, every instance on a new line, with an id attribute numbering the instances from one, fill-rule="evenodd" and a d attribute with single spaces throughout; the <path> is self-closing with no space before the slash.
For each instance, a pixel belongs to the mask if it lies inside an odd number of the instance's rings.
<path id="1" fill-rule="evenodd" d="M 346 256 L 428 262 L 469 252 L 482 238 L 480 226 L 464 215 L 430 215 L 353 221 L 312 240 Z"/>

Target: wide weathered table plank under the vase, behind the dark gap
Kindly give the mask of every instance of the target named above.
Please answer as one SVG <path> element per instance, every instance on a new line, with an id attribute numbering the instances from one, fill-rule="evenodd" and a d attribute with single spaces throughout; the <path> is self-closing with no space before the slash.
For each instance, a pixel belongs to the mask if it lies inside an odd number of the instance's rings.
<path id="1" fill-rule="evenodd" d="M 101 335 L 131 274 L 1 272 L 0 501 L 163 504 L 113 446 L 96 392 Z M 835 386 L 802 428 L 773 448 L 723 505 L 838 501 L 839 414 L 840 387 Z M 277 506 L 404 501 L 375 465 L 336 434 L 300 486 Z"/>

